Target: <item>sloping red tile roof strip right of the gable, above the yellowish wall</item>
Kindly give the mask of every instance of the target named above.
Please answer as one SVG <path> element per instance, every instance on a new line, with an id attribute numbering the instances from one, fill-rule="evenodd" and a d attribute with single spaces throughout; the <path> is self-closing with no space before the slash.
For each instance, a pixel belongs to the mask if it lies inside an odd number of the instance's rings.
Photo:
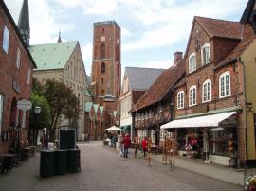
<path id="1" fill-rule="evenodd" d="M 226 65 L 227 62 L 240 57 L 243 54 L 243 52 L 247 49 L 247 46 L 253 40 L 255 40 L 256 34 L 254 33 L 253 28 L 248 24 L 242 26 L 243 35 L 241 36 L 240 43 L 238 43 L 237 46 L 229 53 L 229 55 L 223 61 L 220 61 L 215 68 L 222 67 Z"/>

